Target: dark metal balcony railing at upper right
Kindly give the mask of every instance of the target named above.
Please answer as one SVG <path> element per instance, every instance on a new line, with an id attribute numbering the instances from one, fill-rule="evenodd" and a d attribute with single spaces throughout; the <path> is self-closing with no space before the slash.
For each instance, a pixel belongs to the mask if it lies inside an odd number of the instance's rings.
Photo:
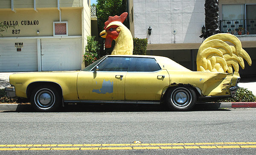
<path id="1" fill-rule="evenodd" d="M 239 29 L 243 34 L 256 34 L 256 20 L 220 20 L 219 29 L 223 33 L 237 35 Z"/>

